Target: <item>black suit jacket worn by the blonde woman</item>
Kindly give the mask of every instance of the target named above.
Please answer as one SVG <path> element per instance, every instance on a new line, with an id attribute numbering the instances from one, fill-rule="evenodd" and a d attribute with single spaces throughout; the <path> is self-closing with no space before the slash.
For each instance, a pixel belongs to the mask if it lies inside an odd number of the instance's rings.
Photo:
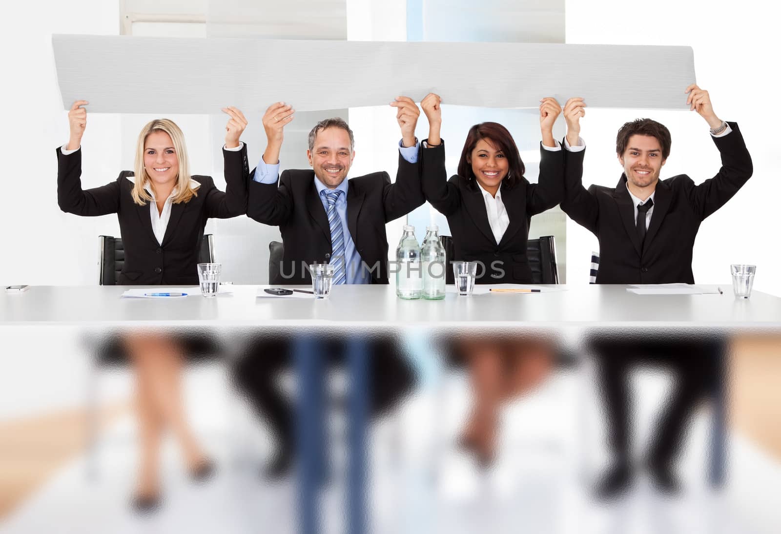
<path id="1" fill-rule="evenodd" d="M 247 145 L 240 151 L 223 149 L 226 190 L 214 187 L 210 176 L 192 176 L 200 183 L 189 201 L 171 205 L 162 244 L 152 230 L 149 202 L 137 205 L 130 192 L 130 171 L 119 173 L 102 187 L 81 188 L 81 150 L 62 155 L 57 148 L 57 201 L 63 212 L 75 215 L 116 213 L 125 249 L 119 285 L 198 285 L 198 251 L 206 219 L 229 219 L 247 212 Z"/>

